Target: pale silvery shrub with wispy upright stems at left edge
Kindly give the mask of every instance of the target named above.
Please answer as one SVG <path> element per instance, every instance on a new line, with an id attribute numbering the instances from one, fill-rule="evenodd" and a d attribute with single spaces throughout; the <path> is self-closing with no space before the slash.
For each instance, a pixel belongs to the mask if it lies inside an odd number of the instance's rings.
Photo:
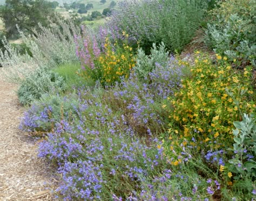
<path id="1" fill-rule="evenodd" d="M 57 22 L 48 28 L 39 25 L 40 30 L 34 31 L 33 35 L 19 31 L 24 46 L 29 49 L 24 55 L 3 40 L 5 51 L 0 50 L 0 63 L 9 81 L 22 82 L 37 68 L 78 62 L 73 35 L 80 35 L 80 28 L 71 20 L 57 19 Z"/>

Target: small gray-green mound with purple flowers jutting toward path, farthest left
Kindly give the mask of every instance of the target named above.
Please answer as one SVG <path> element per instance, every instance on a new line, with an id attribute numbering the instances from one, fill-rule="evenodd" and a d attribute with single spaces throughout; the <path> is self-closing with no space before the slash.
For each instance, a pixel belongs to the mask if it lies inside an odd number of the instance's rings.
<path id="1" fill-rule="evenodd" d="M 69 96 L 43 95 L 24 113 L 20 128 L 26 132 L 50 132 L 62 120 L 70 121 L 79 116 L 79 102 L 75 94 Z"/>

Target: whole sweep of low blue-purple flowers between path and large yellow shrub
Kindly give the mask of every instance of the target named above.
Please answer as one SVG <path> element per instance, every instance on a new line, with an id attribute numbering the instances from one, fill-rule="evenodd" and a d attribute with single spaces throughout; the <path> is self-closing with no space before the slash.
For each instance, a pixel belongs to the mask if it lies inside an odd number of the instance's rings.
<path id="1" fill-rule="evenodd" d="M 156 133 L 168 126 L 163 103 L 181 79 L 167 66 L 157 66 L 151 82 L 132 74 L 115 87 L 44 96 L 25 113 L 23 130 L 49 132 L 38 155 L 57 165 L 64 200 L 192 200 L 205 192 L 199 184 L 204 179 L 191 182 L 183 170 L 177 174 L 157 147 Z M 166 84 L 173 77 L 176 87 Z M 195 181 L 198 193 L 192 190 Z"/>

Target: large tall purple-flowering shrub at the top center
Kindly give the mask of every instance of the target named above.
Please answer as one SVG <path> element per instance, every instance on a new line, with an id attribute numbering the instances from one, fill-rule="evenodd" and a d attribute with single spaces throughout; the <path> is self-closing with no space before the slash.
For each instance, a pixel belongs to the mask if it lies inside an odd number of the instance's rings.
<path id="1" fill-rule="evenodd" d="M 192 39 L 206 8 L 201 0 L 125 0 L 112 12 L 108 27 L 117 39 L 122 39 L 125 31 L 130 41 L 139 41 L 145 51 L 163 41 L 168 49 L 179 52 Z"/>

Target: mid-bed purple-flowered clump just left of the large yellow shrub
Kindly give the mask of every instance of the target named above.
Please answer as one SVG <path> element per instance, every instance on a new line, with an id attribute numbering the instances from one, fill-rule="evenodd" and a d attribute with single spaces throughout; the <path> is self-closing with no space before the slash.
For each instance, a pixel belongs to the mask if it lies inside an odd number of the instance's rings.
<path id="1" fill-rule="evenodd" d="M 149 125 L 153 129 L 164 124 L 162 114 L 155 106 L 179 89 L 182 70 L 183 67 L 179 67 L 177 60 L 171 57 L 169 63 L 163 66 L 156 64 L 145 82 L 140 81 L 136 73 L 133 73 L 129 80 L 123 80 L 113 89 L 114 97 L 125 107 L 126 117 L 130 117 L 130 125 L 143 125 L 144 130 L 150 133 L 147 129 Z"/>

